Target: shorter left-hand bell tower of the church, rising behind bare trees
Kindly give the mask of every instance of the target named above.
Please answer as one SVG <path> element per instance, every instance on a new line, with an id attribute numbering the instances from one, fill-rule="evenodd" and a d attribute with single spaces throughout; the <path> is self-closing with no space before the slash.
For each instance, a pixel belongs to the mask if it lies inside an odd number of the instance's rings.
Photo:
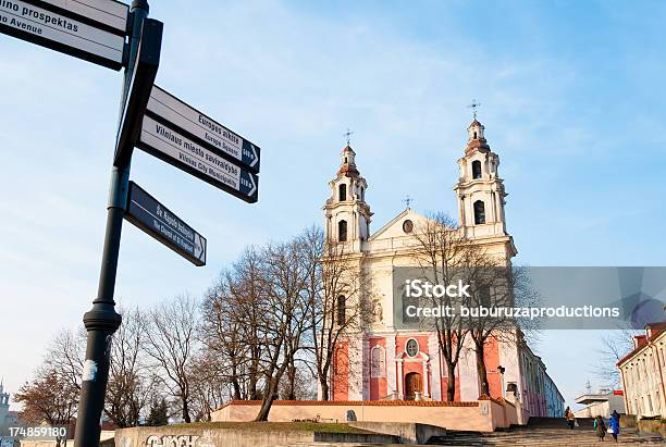
<path id="1" fill-rule="evenodd" d="M 351 250 L 360 251 L 360 243 L 370 235 L 372 213 L 366 203 L 368 184 L 358 172 L 355 158 L 347 144 L 341 153 L 337 176 L 330 182 L 331 197 L 323 209 L 326 240 L 354 243 Z"/>

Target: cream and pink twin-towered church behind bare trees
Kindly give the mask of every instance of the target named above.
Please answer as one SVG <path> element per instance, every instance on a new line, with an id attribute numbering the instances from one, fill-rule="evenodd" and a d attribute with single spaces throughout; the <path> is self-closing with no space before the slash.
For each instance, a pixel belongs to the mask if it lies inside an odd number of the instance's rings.
<path id="1" fill-rule="evenodd" d="M 457 221 L 464 237 L 510 265 L 517 249 L 507 232 L 504 212 L 507 194 L 498 172 L 499 156 L 491 150 L 484 131 L 474 114 L 467 128 L 467 145 L 458 160 L 459 177 L 453 188 L 458 203 Z M 414 262 L 415 232 L 427 218 L 407 206 L 373 233 L 368 183 L 360 173 L 356 153 L 347 144 L 341 157 L 340 169 L 330 183 L 331 195 L 323 207 L 325 235 L 328 240 L 344 244 L 345 253 L 371 276 L 372 300 L 378 302 L 372 306 L 370 322 L 347 334 L 337 345 L 329 380 L 331 398 L 445 401 L 448 377 L 437 333 L 400 330 L 394 321 L 393 271 Z M 338 300 L 338 307 L 354 306 L 345 297 Z M 532 352 L 521 334 L 518 338 L 516 343 L 492 339 L 485 347 L 491 397 L 519 403 L 525 420 L 560 417 L 564 412 L 560 393 L 541 358 Z M 472 349 L 464 350 L 456 369 L 456 401 L 480 397 L 476 361 Z"/>

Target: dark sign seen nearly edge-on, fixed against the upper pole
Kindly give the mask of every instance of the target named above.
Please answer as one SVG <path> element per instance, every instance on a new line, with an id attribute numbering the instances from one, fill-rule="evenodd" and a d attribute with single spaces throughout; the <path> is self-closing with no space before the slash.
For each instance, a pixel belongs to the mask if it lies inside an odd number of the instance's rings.
<path id="1" fill-rule="evenodd" d="M 160 65 L 163 24 L 155 18 L 146 18 L 143 24 L 141 39 L 134 61 L 127 98 L 115 140 L 116 166 L 125 166 L 132 158 L 134 146 L 141 129 L 141 119 L 148 104 L 150 90 Z"/>

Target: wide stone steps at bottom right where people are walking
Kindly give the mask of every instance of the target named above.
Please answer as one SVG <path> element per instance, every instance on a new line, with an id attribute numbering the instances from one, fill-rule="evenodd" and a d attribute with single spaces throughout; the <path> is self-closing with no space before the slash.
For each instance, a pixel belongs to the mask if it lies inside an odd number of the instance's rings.
<path id="1" fill-rule="evenodd" d="M 607 435 L 601 444 L 593 429 L 592 419 L 578 419 L 579 426 L 570 430 L 566 421 L 554 418 L 531 418 L 527 426 L 516 426 L 493 433 L 448 432 L 446 436 L 431 438 L 430 445 L 444 446 L 498 446 L 498 447 L 599 447 L 615 445 Z M 618 445 L 664 446 L 658 435 L 640 435 L 636 429 L 621 429 Z"/>

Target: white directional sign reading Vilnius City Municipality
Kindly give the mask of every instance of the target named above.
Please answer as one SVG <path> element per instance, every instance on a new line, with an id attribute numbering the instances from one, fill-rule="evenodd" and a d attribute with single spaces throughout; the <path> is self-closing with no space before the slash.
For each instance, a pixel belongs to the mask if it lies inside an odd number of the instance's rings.
<path id="1" fill-rule="evenodd" d="M 257 201 L 258 176 L 148 115 L 137 147 L 246 202 Z"/>

